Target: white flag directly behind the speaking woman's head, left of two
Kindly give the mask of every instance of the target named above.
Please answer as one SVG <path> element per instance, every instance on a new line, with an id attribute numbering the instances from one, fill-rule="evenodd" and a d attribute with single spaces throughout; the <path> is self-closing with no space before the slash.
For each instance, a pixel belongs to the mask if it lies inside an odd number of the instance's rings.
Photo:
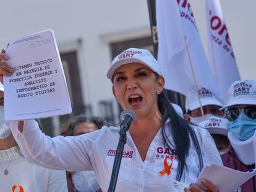
<path id="1" fill-rule="evenodd" d="M 158 63 L 166 80 L 166 88 L 185 95 L 195 89 L 184 42 L 186 36 L 198 88 L 207 88 L 221 99 L 189 1 L 156 0 L 156 24 Z"/>

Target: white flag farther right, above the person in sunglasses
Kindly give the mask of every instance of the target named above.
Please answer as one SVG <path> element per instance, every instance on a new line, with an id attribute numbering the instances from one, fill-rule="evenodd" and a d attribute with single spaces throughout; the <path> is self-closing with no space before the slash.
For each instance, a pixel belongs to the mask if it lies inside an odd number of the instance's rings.
<path id="1" fill-rule="evenodd" d="M 228 29 L 219 0 L 206 1 L 208 53 L 213 75 L 218 81 L 220 93 L 226 100 L 226 93 L 234 81 L 241 80 L 236 59 L 229 39 Z"/>

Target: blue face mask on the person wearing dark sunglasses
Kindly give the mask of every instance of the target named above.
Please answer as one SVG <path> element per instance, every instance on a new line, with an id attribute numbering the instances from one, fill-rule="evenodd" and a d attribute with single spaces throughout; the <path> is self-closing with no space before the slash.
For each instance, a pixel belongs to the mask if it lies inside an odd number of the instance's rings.
<path id="1" fill-rule="evenodd" d="M 247 117 L 244 112 L 233 122 L 228 121 L 228 131 L 231 131 L 237 139 L 241 141 L 248 140 L 256 130 L 256 120 Z"/>

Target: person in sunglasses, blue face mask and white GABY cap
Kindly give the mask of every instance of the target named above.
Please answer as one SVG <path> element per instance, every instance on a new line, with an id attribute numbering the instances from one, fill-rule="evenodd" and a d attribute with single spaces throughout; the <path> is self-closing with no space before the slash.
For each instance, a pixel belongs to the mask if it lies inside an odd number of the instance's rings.
<path id="1" fill-rule="evenodd" d="M 226 167 L 247 172 L 255 168 L 256 80 L 235 81 L 227 98 L 226 106 L 221 109 L 226 109 L 231 146 L 221 159 Z M 256 191 L 255 177 L 245 182 L 241 190 Z"/>

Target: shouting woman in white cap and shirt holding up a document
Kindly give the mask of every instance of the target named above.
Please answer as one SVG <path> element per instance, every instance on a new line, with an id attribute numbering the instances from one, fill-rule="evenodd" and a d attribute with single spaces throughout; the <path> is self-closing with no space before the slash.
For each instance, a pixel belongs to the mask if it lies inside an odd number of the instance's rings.
<path id="1" fill-rule="evenodd" d="M 1 62 L 0 75 L 11 75 Z M 123 109 L 137 119 L 127 131 L 116 191 L 171 191 L 174 180 L 189 186 L 203 164 L 221 164 L 210 134 L 186 122 L 174 111 L 163 93 L 164 77 L 158 63 L 145 49 L 130 48 L 112 62 L 107 77 Z M 49 138 L 34 120 L 12 122 L 12 133 L 24 156 L 50 169 L 93 170 L 103 191 L 108 190 L 119 128 L 80 136 Z M 208 191 L 218 191 L 203 180 Z M 203 191 L 191 184 L 185 191 Z"/>

